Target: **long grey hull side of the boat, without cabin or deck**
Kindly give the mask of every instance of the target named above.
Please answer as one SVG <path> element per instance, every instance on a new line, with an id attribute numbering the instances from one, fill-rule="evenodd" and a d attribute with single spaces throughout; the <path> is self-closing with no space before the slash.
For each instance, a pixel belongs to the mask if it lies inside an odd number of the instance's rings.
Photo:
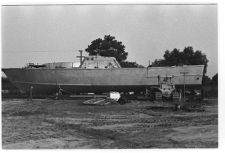
<path id="1" fill-rule="evenodd" d="M 9 80 L 21 92 L 50 94 L 60 88 L 68 94 L 103 93 L 109 91 L 145 91 L 158 86 L 159 81 L 172 76 L 172 82 L 182 88 L 201 86 L 203 66 L 185 67 L 118 68 L 118 69 L 3 69 Z M 185 80 L 184 80 L 185 79 Z"/>

